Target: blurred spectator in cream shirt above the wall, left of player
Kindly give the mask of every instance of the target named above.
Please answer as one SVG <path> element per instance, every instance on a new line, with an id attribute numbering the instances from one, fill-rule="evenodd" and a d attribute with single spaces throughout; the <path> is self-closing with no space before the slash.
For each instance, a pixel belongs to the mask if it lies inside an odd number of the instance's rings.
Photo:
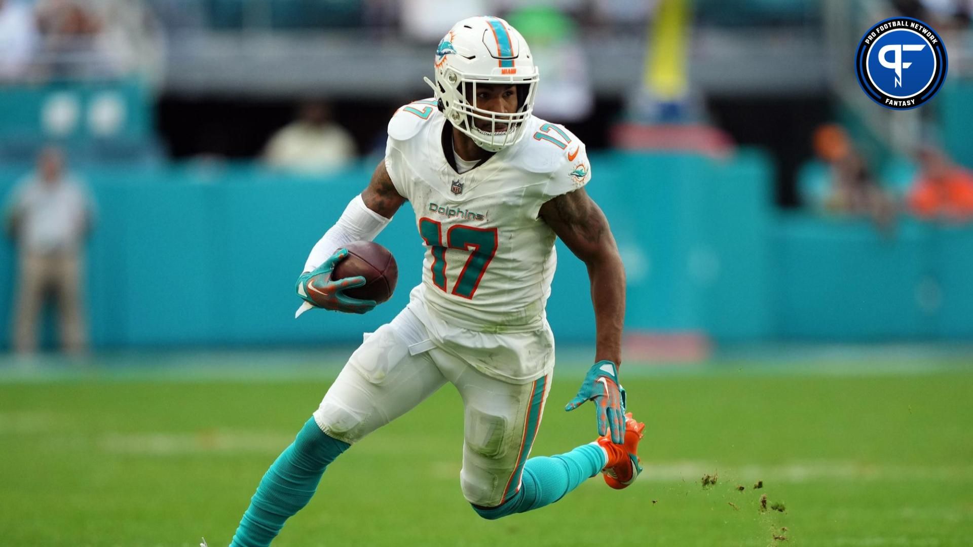
<path id="1" fill-rule="evenodd" d="M 341 168 L 355 154 L 354 140 L 332 120 L 331 106 L 308 102 L 298 120 L 270 137 L 264 159 L 273 167 L 310 174 Z"/>

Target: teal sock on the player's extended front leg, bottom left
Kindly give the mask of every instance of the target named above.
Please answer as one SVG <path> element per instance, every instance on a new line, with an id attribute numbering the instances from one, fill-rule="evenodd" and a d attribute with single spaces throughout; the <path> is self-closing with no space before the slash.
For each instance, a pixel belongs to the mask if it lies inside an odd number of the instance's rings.
<path id="1" fill-rule="evenodd" d="M 300 511 L 317 490 L 329 463 L 350 445 L 326 435 L 308 419 L 291 446 L 277 456 L 250 499 L 231 547 L 265 547 L 284 521 Z"/>

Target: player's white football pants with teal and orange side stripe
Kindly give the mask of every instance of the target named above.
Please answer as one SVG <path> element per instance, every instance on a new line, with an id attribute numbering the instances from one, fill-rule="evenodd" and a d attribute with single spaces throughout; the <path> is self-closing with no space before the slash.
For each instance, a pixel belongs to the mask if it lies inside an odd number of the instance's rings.
<path id="1" fill-rule="evenodd" d="M 520 489 L 552 377 L 506 383 L 486 376 L 433 344 L 407 308 L 366 335 L 314 419 L 328 435 L 354 444 L 452 383 L 464 408 L 463 495 L 470 503 L 495 507 Z"/>

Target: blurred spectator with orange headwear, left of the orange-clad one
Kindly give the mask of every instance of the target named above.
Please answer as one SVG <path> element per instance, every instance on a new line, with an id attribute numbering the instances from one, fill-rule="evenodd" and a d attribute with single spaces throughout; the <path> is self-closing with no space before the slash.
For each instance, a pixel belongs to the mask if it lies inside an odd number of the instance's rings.
<path id="1" fill-rule="evenodd" d="M 814 131 L 814 151 L 830 168 L 830 183 L 811 197 L 813 205 L 830 213 L 872 217 L 885 226 L 892 201 L 872 176 L 844 128 L 828 124 Z"/>

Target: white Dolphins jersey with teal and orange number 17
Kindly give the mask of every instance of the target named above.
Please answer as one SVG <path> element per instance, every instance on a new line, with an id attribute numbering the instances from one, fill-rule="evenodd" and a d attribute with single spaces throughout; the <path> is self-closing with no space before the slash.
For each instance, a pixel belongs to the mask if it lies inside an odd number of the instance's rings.
<path id="1" fill-rule="evenodd" d="M 385 166 L 425 245 L 420 294 L 452 325 L 497 334 L 545 325 L 557 256 L 538 213 L 592 175 L 574 134 L 536 117 L 526 124 L 520 142 L 458 173 L 435 99 L 406 105 L 389 122 Z"/>

